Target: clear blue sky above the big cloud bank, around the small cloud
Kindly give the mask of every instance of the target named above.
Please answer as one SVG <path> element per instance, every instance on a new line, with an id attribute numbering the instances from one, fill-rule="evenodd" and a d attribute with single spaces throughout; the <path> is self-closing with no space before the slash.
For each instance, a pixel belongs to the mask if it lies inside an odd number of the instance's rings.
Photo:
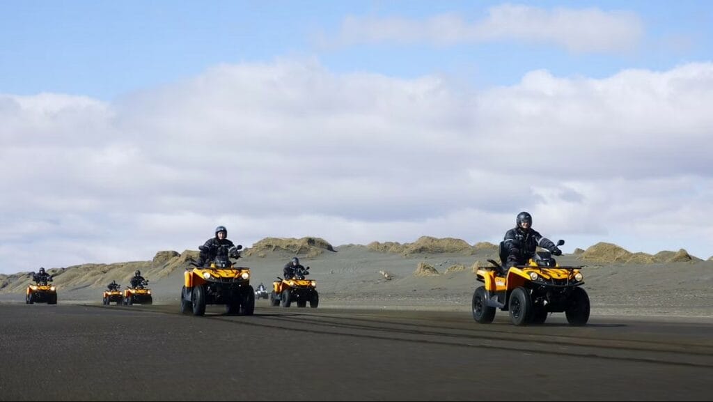
<path id="1" fill-rule="evenodd" d="M 713 5 L 704 1 L 595 1 L 578 9 L 632 11 L 645 25 L 635 49 L 573 54 L 517 41 L 487 44 L 319 45 L 345 16 L 426 19 L 456 12 L 476 21 L 496 1 L 4 1 L 0 91 L 59 92 L 109 100 L 200 74 L 210 66 L 317 57 L 333 71 L 416 77 L 446 73 L 479 86 L 513 84 L 525 72 L 603 77 L 620 69 L 670 69 L 712 53 Z M 540 1 L 543 9 L 570 2 Z"/>

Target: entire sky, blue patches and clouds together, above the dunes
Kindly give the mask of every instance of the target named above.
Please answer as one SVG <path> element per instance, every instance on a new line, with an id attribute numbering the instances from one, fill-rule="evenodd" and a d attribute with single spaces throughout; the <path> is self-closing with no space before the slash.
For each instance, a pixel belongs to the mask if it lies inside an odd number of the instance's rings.
<path id="1" fill-rule="evenodd" d="M 318 236 L 713 256 L 713 3 L 0 2 L 0 273 Z"/>

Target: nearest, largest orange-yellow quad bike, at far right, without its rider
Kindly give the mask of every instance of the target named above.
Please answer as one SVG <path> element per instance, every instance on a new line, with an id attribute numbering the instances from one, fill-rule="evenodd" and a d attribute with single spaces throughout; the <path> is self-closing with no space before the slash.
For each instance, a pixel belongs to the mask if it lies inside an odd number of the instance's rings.
<path id="1" fill-rule="evenodd" d="M 560 240 L 557 246 L 565 241 Z M 473 318 L 478 323 L 491 323 L 496 308 L 510 311 L 513 324 L 544 323 L 549 313 L 564 312 L 567 321 L 583 326 L 589 321 L 590 303 L 580 268 L 559 266 L 550 251 L 538 251 L 523 266 L 503 268 L 507 253 L 500 244 L 501 263 L 477 271 L 478 281 L 485 286 L 473 293 Z"/>

